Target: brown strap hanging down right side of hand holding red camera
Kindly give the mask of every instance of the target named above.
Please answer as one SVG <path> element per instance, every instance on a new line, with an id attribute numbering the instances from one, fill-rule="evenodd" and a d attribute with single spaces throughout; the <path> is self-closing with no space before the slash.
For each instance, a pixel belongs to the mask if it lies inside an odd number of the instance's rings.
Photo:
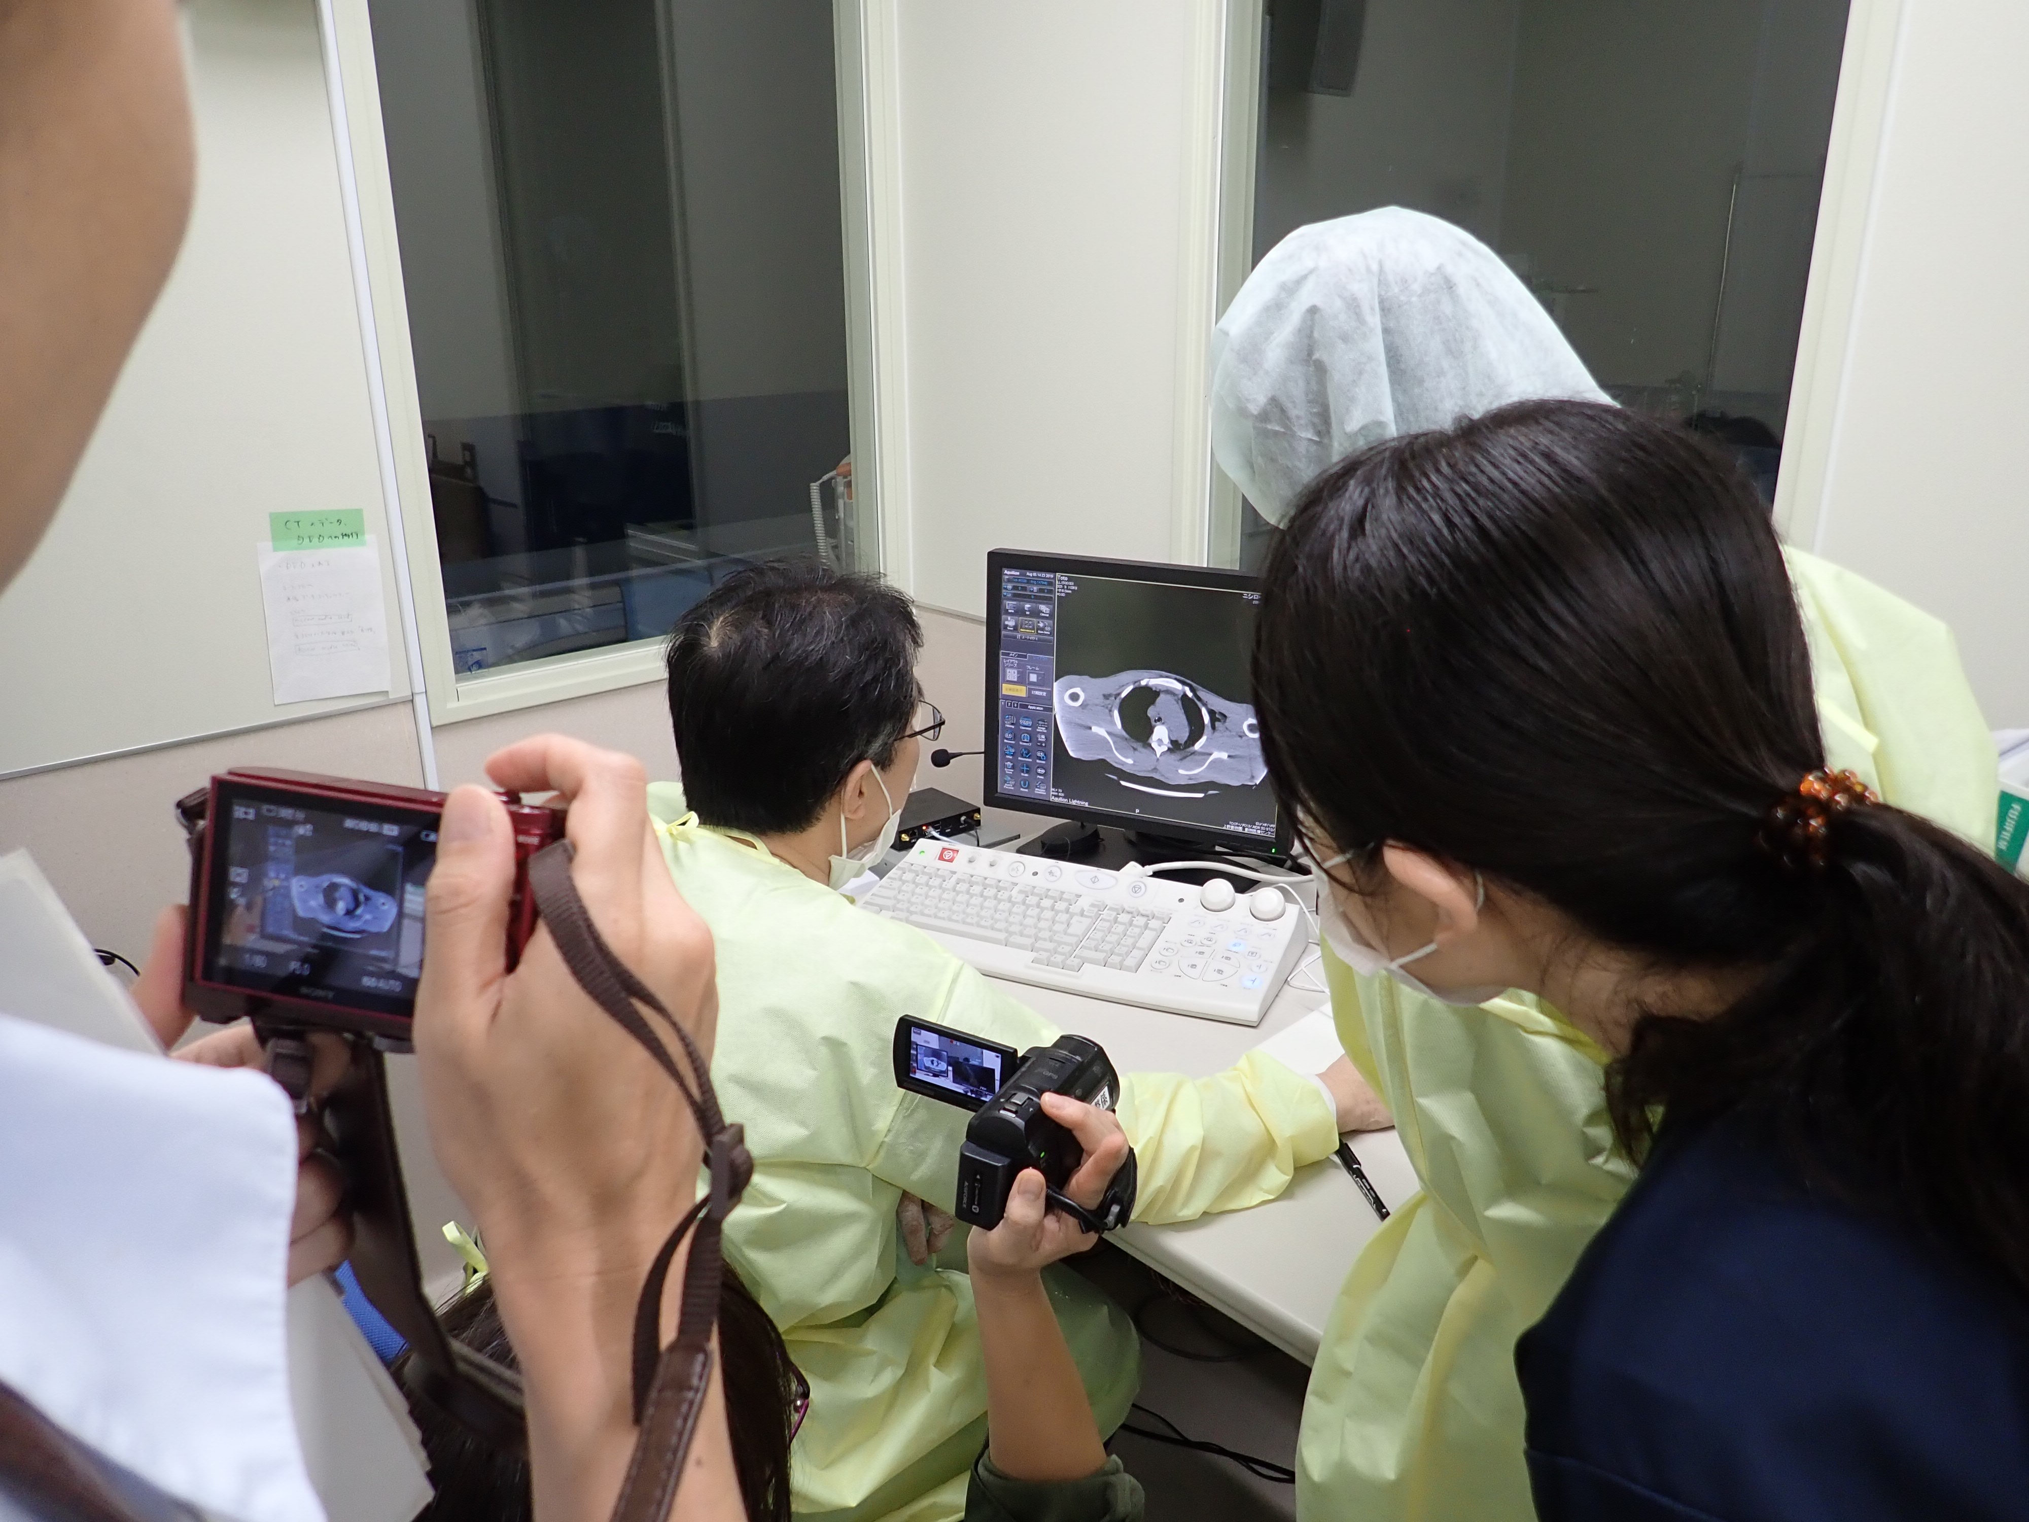
<path id="1" fill-rule="evenodd" d="M 613 1522 L 663 1522 L 676 1502 L 676 1488 L 690 1457 L 690 1443 L 704 1410 L 704 1394 L 712 1380 L 712 1329 L 718 1325 L 718 1287 L 724 1272 L 722 1232 L 726 1214 L 739 1203 L 753 1179 L 753 1157 L 747 1153 L 741 1126 L 728 1126 L 718 1112 L 710 1063 L 698 1053 L 668 1007 L 643 984 L 592 923 L 576 883 L 570 881 L 572 846 L 558 840 L 530 858 L 528 885 L 536 895 L 542 921 L 570 968 L 570 976 L 607 1015 L 639 1041 L 655 1063 L 670 1074 L 690 1104 L 698 1130 L 704 1132 L 704 1157 L 710 1187 L 661 1244 L 649 1268 L 641 1299 L 635 1305 L 633 1333 L 633 1414 L 639 1435 Z M 670 1047 L 641 1015 L 647 1007 L 676 1033 L 684 1049 L 686 1080 Z M 694 1082 L 692 1082 L 694 1080 Z M 684 1299 L 676 1325 L 676 1341 L 661 1347 L 661 1295 L 670 1262 L 678 1246 L 696 1228 L 690 1244 L 690 1264 L 684 1270 Z"/>

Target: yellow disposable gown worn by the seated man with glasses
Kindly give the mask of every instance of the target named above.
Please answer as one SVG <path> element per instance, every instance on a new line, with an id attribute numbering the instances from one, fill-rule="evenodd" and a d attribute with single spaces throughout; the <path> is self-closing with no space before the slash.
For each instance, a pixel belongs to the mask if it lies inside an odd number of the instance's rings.
<path id="1" fill-rule="evenodd" d="M 649 787 L 649 812 L 716 942 L 712 1082 L 755 1157 L 726 1254 L 812 1388 L 791 1455 L 795 1512 L 956 1520 L 986 1412 L 972 1287 L 909 1262 L 895 1207 L 903 1191 L 952 1207 L 968 1116 L 895 1088 L 895 1021 L 1017 1049 L 1057 1031 L 923 931 L 858 909 L 749 836 L 698 826 L 674 783 Z M 1272 1199 L 1337 1147 L 1317 1084 L 1260 1053 L 1195 1084 L 1130 1074 L 1120 1120 L 1144 1222 Z M 1053 1272 L 1051 1293 L 1112 1431 L 1140 1380 L 1134 1329 L 1077 1274 Z"/>

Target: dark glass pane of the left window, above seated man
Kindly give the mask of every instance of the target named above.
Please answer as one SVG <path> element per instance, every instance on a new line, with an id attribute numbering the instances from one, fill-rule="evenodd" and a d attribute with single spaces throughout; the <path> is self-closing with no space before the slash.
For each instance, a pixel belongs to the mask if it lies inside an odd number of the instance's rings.
<path id="1" fill-rule="evenodd" d="M 371 0 L 450 643 L 850 562 L 830 0 Z"/>

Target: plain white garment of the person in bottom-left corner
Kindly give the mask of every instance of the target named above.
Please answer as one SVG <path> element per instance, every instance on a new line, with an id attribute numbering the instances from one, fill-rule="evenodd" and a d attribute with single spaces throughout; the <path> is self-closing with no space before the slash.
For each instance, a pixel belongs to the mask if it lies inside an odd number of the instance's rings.
<path id="1" fill-rule="evenodd" d="M 325 1518 L 284 1352 L 294 1199 L 262 1074 L 0 1015 L 0 1380 L 233 1522 Z"/>

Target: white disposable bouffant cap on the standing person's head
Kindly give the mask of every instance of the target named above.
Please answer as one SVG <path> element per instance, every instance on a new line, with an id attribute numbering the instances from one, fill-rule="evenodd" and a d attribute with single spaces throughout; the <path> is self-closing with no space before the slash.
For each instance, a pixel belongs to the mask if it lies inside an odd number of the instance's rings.
<path id="1" fill-rule="evenodd" d="M 1493 250 L 1402 207 L 1292 231 L 1211 335 L 1211 451 L 1270 524 L 1368 444 L 1528 398 L 1611 400 Z"/>

